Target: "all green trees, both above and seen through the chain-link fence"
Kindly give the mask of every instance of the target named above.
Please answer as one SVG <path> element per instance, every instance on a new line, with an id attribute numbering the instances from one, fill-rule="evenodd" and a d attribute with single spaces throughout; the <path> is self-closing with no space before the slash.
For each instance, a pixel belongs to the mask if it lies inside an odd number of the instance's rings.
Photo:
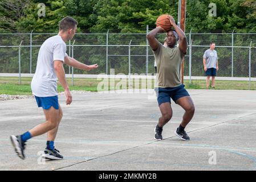
<path id="1" fill-rule="evenodd" d="M 46 6 L 46 15 L 39 17 L 39 3 Z M 209 4 L 216 3 L 217 16 L 208 15 Z M 58 22 L 65 16 L 78 20 L 79 32 L 112 33 L 145 33 L 156 27 L 156 19 L 161 14 L 170 14 L 176 19 L 178 0 L 1 0 L 0 1 L 0 32 L 39 32 L 33 34 L 33 45 L 40 46 L 51 35 L 42 32 L 58 32 Z M 187 0 L 186 33 L 193 32 L 256 32 L 256 1 L 255 0 Z M 105 45 L 105 35 L 75 35 L 76 44 Z M 30 35 L 1 35 L 0 45 L 30 45 Z M 145 45 L 145 35 L 114 35 L 109 34 L 108 44 Z M 159 36 L 159 40 L 163 37 Z M 217 46 L 231 46 L 231 35 L 193 35 L 193 45 L 208 46 L 211 40 Z M 235 35 L 234 46 L 255 46 L 255 35 Z M 67 43 L 68 44 L 68 43 Z M 192 49 L 192 76 L 203 76 L 202 55 L 207 49 Z M 231 76 L 231 48 L 216 48 L 218 51 L 220 72 L 218 76 Z M 39 47 L 32 48 L 32 73 L 35 71 L 36 57 Z M 145 47 L 131 47 L 131 55 L 145 55 Z M 29 73 L 30 48 L 22 48 L 21 72 Z M 68 53 L 68 51 L 67 51 Z M 105 72 L 106 47 L 75 47 L 74 57 L 86 64 L 99 64 L 99 69 L 91 74 Z M 128 55 L 128 47 L 109 47 L 111 55 Z M 188 51 L 189 54 L 189 51 Z M 149 73 L 154 73 L 152 51 L 149 49 Z M 248 76 L 249 49 L 234 49 L 234 76 Z M 131 72 L 145 73 L 145 56 L 131 57 Z M 185 75 L 188 75 L 188 57 L 185 59 Z M 0 72 L 18 72 L 18 48 L 0 48 Z M 116 73 L 128 73 L 128 57 L 108 57 L 108 68 L 115 68 Z M 252 77 L 256 77 L 256 50 L 251 49 Z M 66 67 L 66 73 L 68 68 Z M 222 72 L 221 72 L 222 71 Z M 109 72 L 109 71 L 108 71 Z M 78 71 L 74 73 L 87 73 Z"/>

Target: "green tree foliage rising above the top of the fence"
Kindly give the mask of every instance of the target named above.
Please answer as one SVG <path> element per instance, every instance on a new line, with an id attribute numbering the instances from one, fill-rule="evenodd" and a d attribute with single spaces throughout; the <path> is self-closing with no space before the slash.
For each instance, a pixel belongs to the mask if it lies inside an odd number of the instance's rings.
<path id="1" fill-rule="evenodd" d="M 38 4 L 46 5 L 46 16 L 38 16 Z M 210 17 L 209 4 L 216 3 L 217 16 Z M 177 0 L 1 0 L 0 31 L 56 31 L 64 16 L 79 22 L 79 30 L 145 32 L 155 27 L 161 14 L 177 20 Z M 256 31 L 255 0 L 188 0 L 186 30 Z"/>

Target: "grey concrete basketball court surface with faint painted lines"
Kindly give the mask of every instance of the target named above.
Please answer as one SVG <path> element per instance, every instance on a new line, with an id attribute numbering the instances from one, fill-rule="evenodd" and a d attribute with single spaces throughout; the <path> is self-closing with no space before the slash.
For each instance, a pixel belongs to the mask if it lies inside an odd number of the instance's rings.
<path id="1" fill-rule="evenodd" d="M 184 110 L 172 104 L 173 118 L 156 141 L 160 116 L 149 93 L 73 94 L 55 147 L 63 160 L 43 161 L 46 134 L 27 142 L 26 160 L 15 154 L 10 135 L 44 122 L 34 98 L 0 101 L 1 170 L 255 170 L 256 94 L 252 90 L 188 90 L 196 106 L 186 127 L 190 141 L 174 137 Z M 153 98 L 153 99 L 152 99 Z"/>

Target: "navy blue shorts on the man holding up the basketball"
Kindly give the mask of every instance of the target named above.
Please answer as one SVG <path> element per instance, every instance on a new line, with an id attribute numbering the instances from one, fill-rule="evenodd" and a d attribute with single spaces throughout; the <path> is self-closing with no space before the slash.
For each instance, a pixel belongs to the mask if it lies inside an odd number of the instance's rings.
<path id="1" fill-rule="evenodd" d="M 170 102 L 170 98 L 176 103 L 176 101 L 185 96 L 190 96 L 184 88 L 185 85 L 181 84 L 173 88 L 156 88 L 157 102 L 159 106 L 162 103 Z"/>

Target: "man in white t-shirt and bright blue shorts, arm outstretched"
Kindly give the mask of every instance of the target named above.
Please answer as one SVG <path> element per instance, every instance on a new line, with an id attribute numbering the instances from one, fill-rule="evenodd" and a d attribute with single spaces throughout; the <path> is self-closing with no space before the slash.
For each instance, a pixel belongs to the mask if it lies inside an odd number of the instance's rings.
<path id="1" fill-rule="evenodd" d="M 22 135 L 11 135 L 10 138 L 15 152 L 21 159 L 25 159 L 25 142 L 44 133 L 47 133 L 47 142 L 42 158 L 63 159 L 63 156 L 54 147 L 54 140 L 62 119 L 62 109 L 58 102 L 58 80 L 64 88 L 66 104 L 69 105 L 72 102 L 63 64 L 88 71 L 98 67 L 97 64 L 86 65 L 80 63 L 66 53 L 65 42 L 74 37 L 77 24 L 78 22 L 69 16 L 63 18 L 59 23 L 58 35 L 48 38 L 39 49 L 36 71 L 31 81 L 31 89 L 38 107 L 43 107 L 46 122 L 39 124 Z"/>

